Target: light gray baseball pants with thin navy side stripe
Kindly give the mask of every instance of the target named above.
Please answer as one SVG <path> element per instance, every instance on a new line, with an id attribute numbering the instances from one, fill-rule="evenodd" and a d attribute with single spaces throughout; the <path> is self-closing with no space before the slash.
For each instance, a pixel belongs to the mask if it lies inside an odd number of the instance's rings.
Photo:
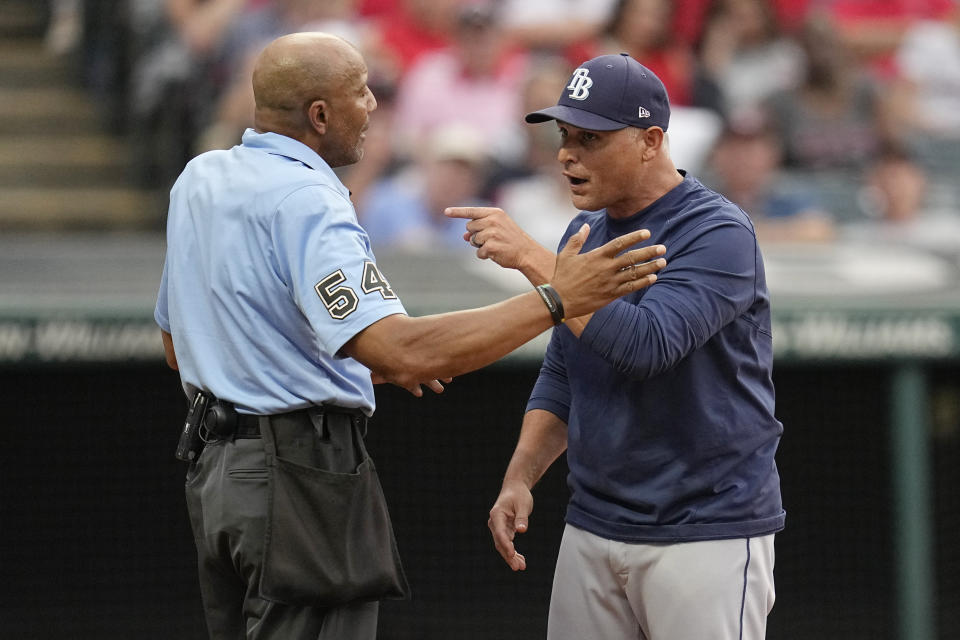
<path id="1" fill-rule="evenodd" d="M 548 640 L 761 640 L 773 535 L 628 544 L 567 525 Z"/>

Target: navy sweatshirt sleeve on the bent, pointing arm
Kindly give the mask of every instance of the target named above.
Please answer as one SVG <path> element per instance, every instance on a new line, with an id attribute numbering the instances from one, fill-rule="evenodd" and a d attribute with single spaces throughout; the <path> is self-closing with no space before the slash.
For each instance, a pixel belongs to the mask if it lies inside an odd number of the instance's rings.
<path id="1" fill-rule="evenodd" d="M 753 230 L 719 220 L 667 247 L 667 266 L 638 295 L 597 311 L 581 343 L 618 371 L 646 379 L 669 370 L 746 312 L 756 298 Z M 631 296 L 632 297 L 632 296 Z"/>

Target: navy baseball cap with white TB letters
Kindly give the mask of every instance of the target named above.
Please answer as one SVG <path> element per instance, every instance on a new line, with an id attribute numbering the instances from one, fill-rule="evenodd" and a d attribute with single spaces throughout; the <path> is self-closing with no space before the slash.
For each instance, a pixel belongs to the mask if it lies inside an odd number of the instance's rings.
<path id="1" fill-rule="evenodd" d="M 599 56 L 574 70 L 556 105 L 528 113 L 525 120 L 560 120 L 594 131 L 666 131 L 670 99 L 660 78 L 626 53 Z"/>

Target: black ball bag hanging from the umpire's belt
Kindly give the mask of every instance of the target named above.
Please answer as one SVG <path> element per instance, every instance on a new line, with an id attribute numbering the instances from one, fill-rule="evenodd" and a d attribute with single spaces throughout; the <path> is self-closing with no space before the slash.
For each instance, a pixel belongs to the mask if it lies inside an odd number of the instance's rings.
<path id="1" fill-rule="evenodd" d="M 320 446 L 309 459 L 296 447 L 286 454 L 286 436 L 277 437 L 283 425 L 260 419 L 270 487 L 261 597 L 316 607 L 407 597 L 361 420 L 317 412 L 310 419 Z"/>

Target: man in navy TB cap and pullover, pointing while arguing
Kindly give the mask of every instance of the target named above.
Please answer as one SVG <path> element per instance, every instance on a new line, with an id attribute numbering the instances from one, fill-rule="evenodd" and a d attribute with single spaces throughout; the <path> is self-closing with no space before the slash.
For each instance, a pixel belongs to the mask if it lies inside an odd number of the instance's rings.
<path id="1" fill-rule="evenodd" d="M 557 155 L 587 247 L 647 228 L 653 286 L 553 331 L 489 525 L 514 570 L 530 489 L 564 451 L 571 491 L 549 640 L 760 640 L 783 528 L 770 299 L 749 217 L 678 171 L 670 104 L 626 54 L 588 60 L 558 103 Z M 545 282 L 551 252 L 503 211 L 453 209 L 481 258 Z"/>

